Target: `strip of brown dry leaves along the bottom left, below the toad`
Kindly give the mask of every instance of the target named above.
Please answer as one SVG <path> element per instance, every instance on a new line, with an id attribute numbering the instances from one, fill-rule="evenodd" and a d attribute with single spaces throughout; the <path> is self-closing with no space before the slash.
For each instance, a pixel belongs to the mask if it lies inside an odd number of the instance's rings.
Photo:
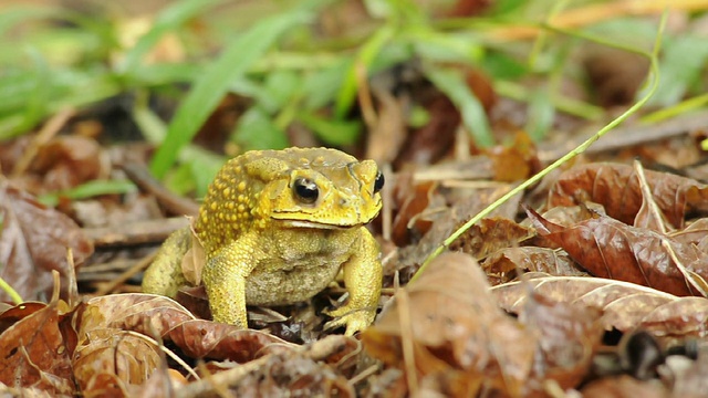
<path id="1" fill-rule="evenodd" d="M 202 379 L 190 384 L 197 390 L 354 396 L 343 376 L 356 364 L 354 338 L 331 336 L 301 347 L 260 331 L 195 320 L 167 297 L 116 294 L 70 308 L 55 295 L 49 305 L 4 311 L 0 325 L 0 383 L 24 391 L 74 395 L 77 386 L 85 396 L 164 396 L 180 375 L 168 371 L 169 357 L 191 381 Z M 209 362 L 192 369 L 184 358 Z"/>

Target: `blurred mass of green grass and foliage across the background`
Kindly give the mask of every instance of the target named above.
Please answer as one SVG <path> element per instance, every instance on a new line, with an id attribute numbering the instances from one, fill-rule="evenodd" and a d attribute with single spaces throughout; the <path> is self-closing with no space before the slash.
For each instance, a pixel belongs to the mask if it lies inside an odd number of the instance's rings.
<path id="1" fill-rule="evenodd" d="M 542 28 L 551 6 L 558 15 L 571 3 L 587 1 L 498 0 L 481 14 L 450 18 L 438 12 L 451 10 L 449 1 L 424 7 L 413 0 L 366 0 L 367 19 L 361 25 L 336 36 L 319 34 L 319 19 L 342 3 L 281 0 L 227 7 L 229 2 L 218 0 L 178 0 L 127 44 L 122 36 L 125 21 L 110 12 L 6 7 L 0 9 L 0 36 L 12 40 L 0 41 L 0 139 L 31 132 L 59 109 L 81 109 L 131 93 L 136 98 L 131 109 L 135 123 L 158 147 L 153 172 L 174 181 L 178 191 L 204 192 L 223 158 L 190 142 L 225 94 L 252 100 L 230 138 L 242 150 L 290 145 L 287 130 L 293 123 L 311 129 L 325 145 L 346 146 L 365 128 L 351 112 L 358 71 L 374 76 L 413 61 L 458 106 L 480 146 L 494 139 L 460 66 L 483 71 L 497 94 L 525 102 L 524 128 L 535 139 L 548 134 L 558 112 L 589 119 L 605 116 L 590 95 L 576 98 L 563 92 L 568 80 L 587 84 L 577 62 L 580 39 L 553 31 L 535 39 L 498 34 Z M 655 20 L 617 17 L 575 31 L 602 36 L 606 43 L 650 46 Z M 200 29 L 189 29 L 195 21 Z M 148 62 L 168 33 L 179 40 L 184 57 Z M 704 41 L 698 33 L 666 38 L 653 105 L 676 105 L 705 92 Z M 150 108 L 146 98 L 153 95 L 175 97 L 179 104 L 169 121 Z M 427 119 L 423 109 L 414 111 L 412 121 Z"/>

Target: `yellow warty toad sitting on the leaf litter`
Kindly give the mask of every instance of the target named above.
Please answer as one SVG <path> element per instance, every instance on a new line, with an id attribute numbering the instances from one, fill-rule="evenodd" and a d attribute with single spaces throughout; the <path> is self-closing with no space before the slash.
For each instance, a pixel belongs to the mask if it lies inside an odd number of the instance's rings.
<path id="1" fill-rule="evenodd" d="M 343 271 L 348 302 L 326 327 L 368 326 L 381 295 L 381 251 L 364 227 L 382 207 L 373 160 L 336 149 L 248 151 L 217 174 L 194 220 L 214 321 L 247 327 L 246 305 L 305 301 Z M 145 272 L 143 291 L 175 296 L 187 284 L 189 227 L 174 232 Z"/>

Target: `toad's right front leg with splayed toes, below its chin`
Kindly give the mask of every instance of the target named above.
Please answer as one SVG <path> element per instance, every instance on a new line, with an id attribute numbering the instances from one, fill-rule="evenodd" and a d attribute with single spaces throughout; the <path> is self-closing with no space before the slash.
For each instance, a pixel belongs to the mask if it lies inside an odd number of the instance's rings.
<path id="1" fill-rule="evenodd" d="M 344 284 L 350 293 L 346 305 L 330 311 L 335 320 L 325 327 L 346 326 L 346 335 L 363 331 L 374 322 L 383 277 L 381 249 L 374 237 L 362 227 L 354 254 L 344 263 Z"/>

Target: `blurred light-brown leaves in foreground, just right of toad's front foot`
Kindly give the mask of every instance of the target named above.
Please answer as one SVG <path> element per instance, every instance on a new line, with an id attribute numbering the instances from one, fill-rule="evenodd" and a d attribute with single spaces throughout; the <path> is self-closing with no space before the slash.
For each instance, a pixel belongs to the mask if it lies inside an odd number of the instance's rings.
<path id="1" fill-rule="evenodd" d="M 600 344 L 600 312 L 534 296 L 514 320 L 500 311 L 486 276 L 465 254 L 444 254 L 400 290 L 365 348 L 406 370 L 409 394 L 528 396 L 549 379 L 563 388 L 585 375 Z M 545 381 L 544 381 L 545 380 Z"/>

